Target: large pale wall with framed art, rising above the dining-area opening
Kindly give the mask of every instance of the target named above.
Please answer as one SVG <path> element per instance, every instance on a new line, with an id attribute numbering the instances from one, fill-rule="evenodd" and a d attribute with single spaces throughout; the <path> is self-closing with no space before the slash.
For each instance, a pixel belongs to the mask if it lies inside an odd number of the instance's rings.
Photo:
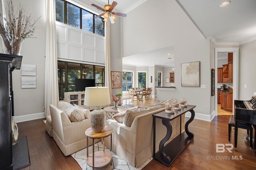
<path id="1" fill-rule="evenodd" d="M 160 12 L 152 15 L 148 9 Z M 148 0 L 129 12 L 122 23 L 123 57 L 168 46 L 175 48 L 176 89 L 157 97 L 161 100 L 185 97 L 189 104 L 197 106 L 197 113 L 210 115 L 210 42 L 176 1 L 161 0 L 159 3 Z M 192 61 L 201 62 L 201 84 L 206 88 L 181 87 L 180 64 Z"/>

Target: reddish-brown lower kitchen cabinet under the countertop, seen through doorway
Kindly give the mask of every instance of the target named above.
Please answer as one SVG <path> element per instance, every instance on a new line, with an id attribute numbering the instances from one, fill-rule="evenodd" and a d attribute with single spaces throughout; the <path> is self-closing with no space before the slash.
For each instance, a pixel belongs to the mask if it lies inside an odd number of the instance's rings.
<path id="1" fill-rule="evenodd" d="M 233 111 L 233 94 L 230 92 L 220 93 L 220 107 L 226 111 Z"/>

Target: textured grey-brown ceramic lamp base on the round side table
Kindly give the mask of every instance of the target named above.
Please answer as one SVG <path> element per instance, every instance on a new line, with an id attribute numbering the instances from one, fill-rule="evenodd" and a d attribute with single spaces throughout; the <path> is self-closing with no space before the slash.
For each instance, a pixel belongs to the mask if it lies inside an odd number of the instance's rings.
<path id="1" fill-rule="evenodd" d="M 96 106 L 96 108 L 91 112 L 92 131 L 102 132 L 104 131 L 105 125 L 106 125 L 105 111 L 101 109 L 101 106 Z"/>

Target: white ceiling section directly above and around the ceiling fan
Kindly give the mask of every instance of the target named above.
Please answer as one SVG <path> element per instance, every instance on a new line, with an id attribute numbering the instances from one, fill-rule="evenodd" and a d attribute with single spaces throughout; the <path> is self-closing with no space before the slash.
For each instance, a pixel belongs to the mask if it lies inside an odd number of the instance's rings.
<path id="1" fill-rule="evenodd" d="M 99 5 L 100 7 L 104 7 L 104 5 L 108 4 L 108 0 L 91 0 L 93 4 Z M 140 6 L 147 0 L 110 0 L 109 4 L 112 4 L 113 1 L 117 2 L 117 6 L 115 7 L 115 12 L 123 12 L 127 13 L 133 10 L 134 8 Z"/>

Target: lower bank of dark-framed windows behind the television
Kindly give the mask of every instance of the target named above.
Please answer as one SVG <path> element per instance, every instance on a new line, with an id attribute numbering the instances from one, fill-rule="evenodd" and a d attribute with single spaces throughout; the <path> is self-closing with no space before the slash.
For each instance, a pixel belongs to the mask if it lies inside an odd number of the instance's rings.
<path id="1" fill-rule="evenodd" d="M 75 91 L 76 78 L 95 79 L 96 86 L 104 86 L 104 66 L 58 61 L 59 100 L 64 100 L 64 92 Z"/>

